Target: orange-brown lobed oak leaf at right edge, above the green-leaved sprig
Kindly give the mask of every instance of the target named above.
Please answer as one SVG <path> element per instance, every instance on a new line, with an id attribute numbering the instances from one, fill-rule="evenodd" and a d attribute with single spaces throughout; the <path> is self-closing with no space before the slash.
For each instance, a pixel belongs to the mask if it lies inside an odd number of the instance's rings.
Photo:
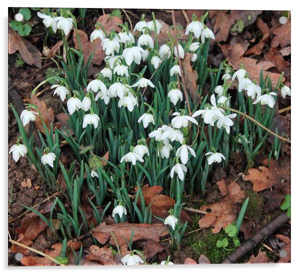
<path id="1" fill-rule="evenodd" d="M 253 183 L 253 191 L 259 192 L 271 187 L 281 188 L 285 194 L 290 193 L 290 157 L 270 161 L 270 166 L 261 166 L 258 169 L 249 169 L 245 181 Z"/>

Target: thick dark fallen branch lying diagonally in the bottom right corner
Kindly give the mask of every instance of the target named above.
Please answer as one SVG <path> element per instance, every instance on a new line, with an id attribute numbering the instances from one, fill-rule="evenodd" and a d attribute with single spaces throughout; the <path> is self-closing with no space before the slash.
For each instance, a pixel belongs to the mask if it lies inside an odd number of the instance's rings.
<path id="1" fill-rule="evenodd" d="M 240 247 L 235 249 L 228 257 L 223 259 L 221 263 L 236 263 L 252 249 L 257 247 L 266 237 L 270 236 L 281 225 L 287 223 L 288 221 L 289 217 L 287 216 L 287 214 L 285 212 L 281 213 L 271 222 L 269 222 L 265 227 L 263 227 L 259 232 L 257 232 L 257 234 L 255 234 L 253 237 L 241 244 Z"/>

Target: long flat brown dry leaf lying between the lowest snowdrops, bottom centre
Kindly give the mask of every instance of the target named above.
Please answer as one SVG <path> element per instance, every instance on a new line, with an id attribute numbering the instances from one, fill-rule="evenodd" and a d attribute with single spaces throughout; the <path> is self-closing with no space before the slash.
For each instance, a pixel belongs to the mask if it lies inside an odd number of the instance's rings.
<path id="1" fill-rule="evenodd" d="M 134 231 L 133 241 L 150 239 L 159 242 L 160 237 L 169 233 L 164 224 L 132 224 L 125 222 L 107 225 L 102 222 L 92 230 L 92 234 L 102 244 L 110 239 L 110 243 L 116 245 L 115 239 L 111 236 L 111 233 L 113 233 L 118 245 L 122 246 L 126 244 L 125 239 L 130 240 L 132 230 Z"/>

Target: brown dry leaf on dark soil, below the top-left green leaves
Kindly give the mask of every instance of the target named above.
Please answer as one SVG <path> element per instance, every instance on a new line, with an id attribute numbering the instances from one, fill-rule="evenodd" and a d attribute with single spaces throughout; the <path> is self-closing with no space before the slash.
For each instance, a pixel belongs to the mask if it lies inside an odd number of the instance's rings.
<path id="1" fill-rule="evenodd" d="M 38 68 L 41 67 L 41 52 L 9 27 L 9 54 L 14 54 L 17 50 L 20 52 L 21 58 L 25 63 Z"/>

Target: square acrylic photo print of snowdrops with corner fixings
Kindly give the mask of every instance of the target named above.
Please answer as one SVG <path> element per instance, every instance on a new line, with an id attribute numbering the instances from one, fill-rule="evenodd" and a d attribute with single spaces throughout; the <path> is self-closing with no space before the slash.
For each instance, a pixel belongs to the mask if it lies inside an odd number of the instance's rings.
<path id="1" fill-rule="evenodd" d="M 290 262 L 290 22 L 10 8 L 9 265 Z"/>

